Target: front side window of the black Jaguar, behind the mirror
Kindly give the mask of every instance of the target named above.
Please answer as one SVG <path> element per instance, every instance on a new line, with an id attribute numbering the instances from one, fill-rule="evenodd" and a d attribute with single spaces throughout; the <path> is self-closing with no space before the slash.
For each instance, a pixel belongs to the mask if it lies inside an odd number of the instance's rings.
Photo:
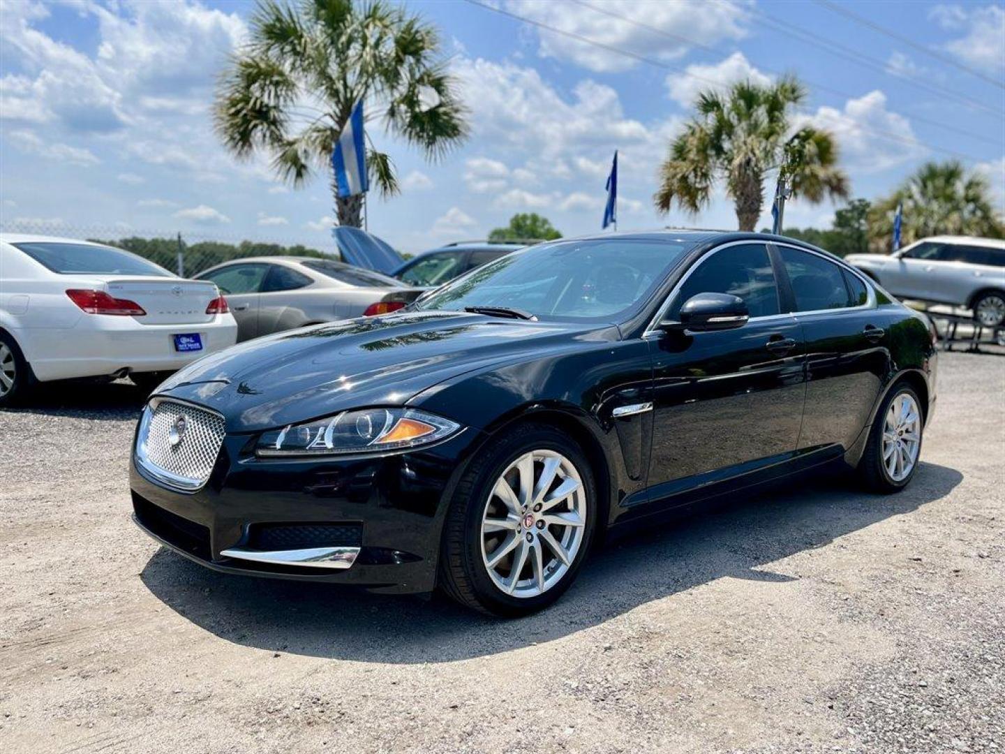
<path id="1" fill-rule="evenodd" d="M 778 285 L 763 243 L 726 246 L 698 262 L 680 287 L 667 313 L 680 318 L 680 307 L 698 294 L 731 294 L 747 304 L 751 317 L 770 317 L 781 312 Z"/>

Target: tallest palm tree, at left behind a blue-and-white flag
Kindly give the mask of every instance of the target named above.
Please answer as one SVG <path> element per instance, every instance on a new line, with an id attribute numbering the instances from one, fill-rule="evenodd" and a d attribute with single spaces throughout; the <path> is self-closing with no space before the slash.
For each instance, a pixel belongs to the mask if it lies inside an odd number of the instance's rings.
<path id="1" fill-rule="evenodd" d="M 259 0 L 249 40 L 220 79 L 216 131 L 238 158 L 268 154 L 293 186 L 327 172 L 339 222 L 359 227 L 362 197 L 338 196 L 331 167 L 357 102 L 429 159 L 467 135 L 457 82 L 439 52 L 433 26 L 385 0 Z M 367 165 L 383 196 L 398 192 L 390 158 L 372 142 Z"/>

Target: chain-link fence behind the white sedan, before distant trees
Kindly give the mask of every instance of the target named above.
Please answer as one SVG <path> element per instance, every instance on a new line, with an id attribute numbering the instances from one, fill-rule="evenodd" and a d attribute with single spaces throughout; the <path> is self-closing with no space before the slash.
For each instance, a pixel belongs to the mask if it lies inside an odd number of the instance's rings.
<path id="1" fill-rule="evenodd" d="M 132 251 L 165 269 L 191 277 L 230 259 L 247 256 L 315 256 L 339 258 L 333 241 L 293 242 L 289 238 L 252 238 L 202 233 L 192 230 L 138 230 L 124 226 L 71 225 L 52 221 L 0 221 L 0 232 L 54 235 L 88 241 Z"/>

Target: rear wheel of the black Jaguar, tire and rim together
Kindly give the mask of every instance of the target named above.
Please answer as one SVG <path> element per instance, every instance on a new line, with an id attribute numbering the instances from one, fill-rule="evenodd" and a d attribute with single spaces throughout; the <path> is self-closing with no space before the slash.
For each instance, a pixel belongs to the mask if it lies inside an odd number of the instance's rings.
<path id="1" fill-rule="evenodd" d="M 924 431 L 921 401 L 906 383 L 894 387 L 876 413 L 858 473 L 877 493 L 895 493 L 918 470 Z"/>

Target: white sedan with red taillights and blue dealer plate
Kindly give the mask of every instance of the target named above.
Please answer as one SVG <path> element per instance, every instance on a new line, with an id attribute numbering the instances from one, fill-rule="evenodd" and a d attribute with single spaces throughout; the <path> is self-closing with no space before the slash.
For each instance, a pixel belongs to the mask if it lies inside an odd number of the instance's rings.
<path id="1" fill-rule="evenodd" d="M 36 380 L 129 375 L 151 388 L 236 340 L 213 282 L 99 243 L 0 234 L 0 406 Z"/>

